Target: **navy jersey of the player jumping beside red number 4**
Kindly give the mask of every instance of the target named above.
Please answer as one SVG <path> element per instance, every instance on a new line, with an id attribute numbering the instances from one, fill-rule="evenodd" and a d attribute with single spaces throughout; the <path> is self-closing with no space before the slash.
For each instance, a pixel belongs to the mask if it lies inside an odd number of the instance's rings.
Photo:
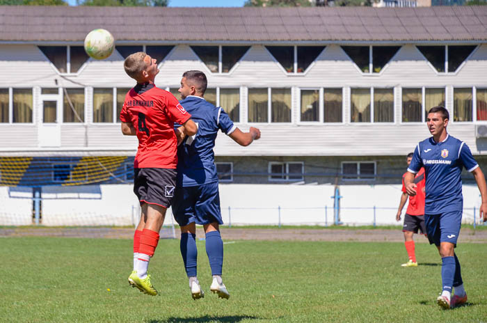
<path id="1" fill-rule="evenodd" d="M 218 181 L 216 175 L 216 134 L 221 129 L 229 135 L 237 128 L 222 108 L 217 108 L 202 97 L 189 95 L 179 101 L 198 125 L 194 136 L 186 137 L 177 149 L 177 185 L 192 187 Z"/>

